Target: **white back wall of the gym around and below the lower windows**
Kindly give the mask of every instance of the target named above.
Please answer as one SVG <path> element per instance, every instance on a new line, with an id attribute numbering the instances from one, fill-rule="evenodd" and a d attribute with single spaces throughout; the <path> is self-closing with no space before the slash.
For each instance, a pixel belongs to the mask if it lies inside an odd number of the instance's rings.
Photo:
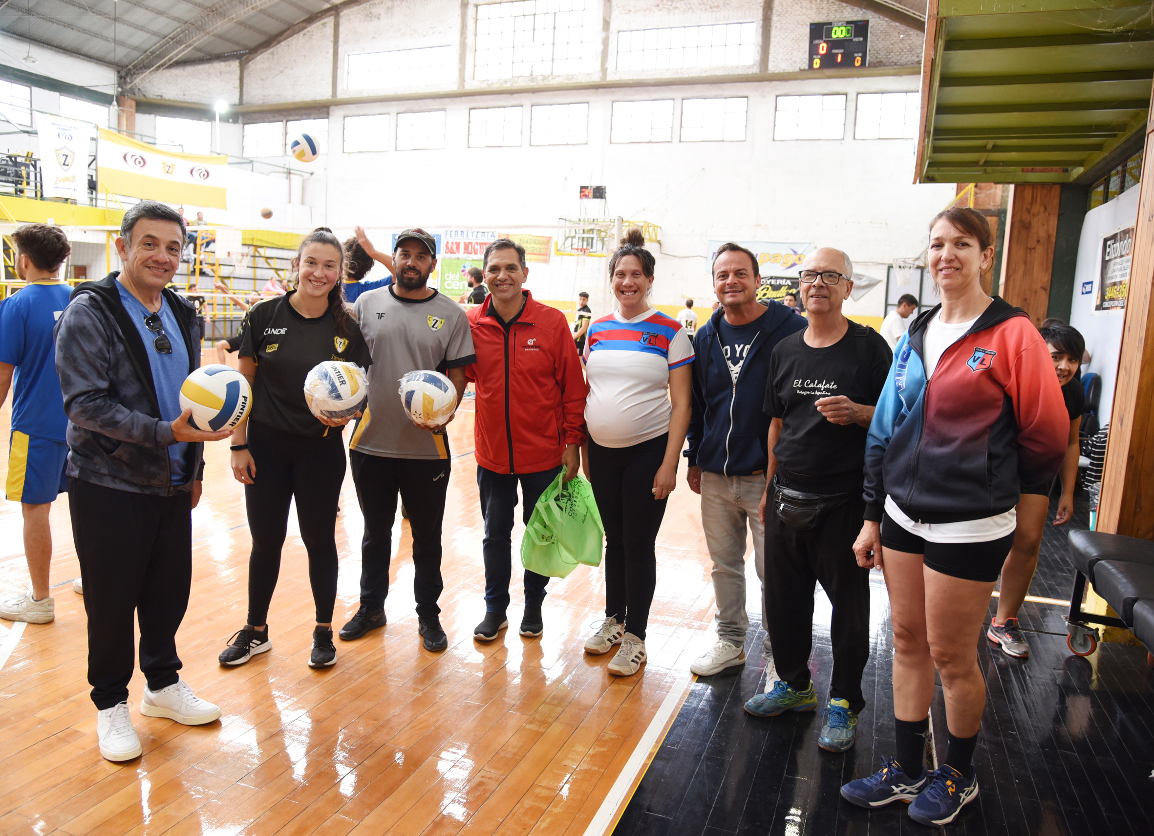
<path id="1" fill-rule="evenodd" d="M 773 140 L 778 95 L 845 92 L 846 137 L 853 136 L 855 92 L 915 89 L 915 76 L 756 82 L 741 84 L 631 88 L 628 91 L 518 94 L 404 102 L 394 106 L 334 107 L 329 154 L 309 167 L 306 203 L 334 229 L 360 224 L 394 232 L 410 225 L 430 229 L 517 231 L 576 218 L 585 207 L 582 185 L 605 185 L 607 216 L 649 221 L 662 229 L 654 300 L 709 299 L 705 262 L 710 239 L 812 241 L 845 249 L 862 273 L 885 278 L 885 263 L 914 256 L 926 246 L 926 224 L 954 193 L 953 185 L 911 185 L 913 140 Z M 747 96 L 744 142 L 614 144 L 612 104 L 617 99 Z M 589 141 L 582 145 L 529 144 L 533 104 L 590 103 Z M 469 148 L 471 107 L 525 106 L 522 145 Z M 342 120 L 361 113 L 390 113 L 395 149 L 396 114 L 445 110 L 443 150 L 342 152 Z M 323 172 L 323 173 L 322 173 Z M 323 180 L 322 180 L 323 178 Z M 324 194 L 321 184 L 324 182 Z M 533 230 L 524 230 L 533 232 Z M 540 231 L 540 234 L 553 234 Z M 577 284 L 597 281 L 605 260 L 589 257 L 578 270 L 560 263 L 535 266 L 538 296 L 565 299 Z M 555 282 L 550 276 L 555 276 Z M 548 281 L 546 281 L 548 279 Z M 576 290 L 575 290 L 576 289 Z M 871 292 L 852 313 L 881 316 L 884 291 Z"/>

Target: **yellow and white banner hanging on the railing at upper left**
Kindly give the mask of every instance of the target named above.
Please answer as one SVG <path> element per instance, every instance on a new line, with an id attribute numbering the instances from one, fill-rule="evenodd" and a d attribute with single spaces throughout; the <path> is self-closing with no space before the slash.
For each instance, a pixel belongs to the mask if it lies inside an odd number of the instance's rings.
<path id="1" fill-rule="evenodd" d="M 164 203 L 227 209 L 227 155 L 180 154 L 97 128 L 99 191 Z"/>

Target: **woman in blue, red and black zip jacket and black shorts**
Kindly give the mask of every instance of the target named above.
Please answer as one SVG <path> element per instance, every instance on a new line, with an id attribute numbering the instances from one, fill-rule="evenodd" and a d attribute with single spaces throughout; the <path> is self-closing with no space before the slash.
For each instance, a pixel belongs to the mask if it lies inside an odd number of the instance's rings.
<path id="1" fill-rule="evenodd" d="M 972 763 L 986 682 L 975 636 L 1013 544 L 1021 485 L 1054 477 L 1069 421 L 1046 343 L 1029 318 L 981 286 L 989 223 L 947 209 L 930 225 L 942 304 L 898 341 L 865 448 L 865 523 L 854 552 L 881 568 L 893 622 L 897 757 L 841 788 L 876 807 L 913 800 L 923 824 L 952 821 L 977 794 Z M 945 763 L 926 774 L 934 671 L 945 692 Z"/>

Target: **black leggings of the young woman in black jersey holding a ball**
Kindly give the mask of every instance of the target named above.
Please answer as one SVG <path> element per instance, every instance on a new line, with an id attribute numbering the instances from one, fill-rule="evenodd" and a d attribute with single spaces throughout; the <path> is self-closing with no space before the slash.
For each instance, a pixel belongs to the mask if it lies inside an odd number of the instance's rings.
<path id="1" fill-rule="evenodd" d="M 256 478 L 245 485 L 253 553 L 248 558 L 248 624 L 263 625 L 280 574 L 288 507 L 297 498 L 300 538 L 308 551 L 308 582 L 319 624 L 332 621 L 337 600 L 337 503 L 345 478 L 340 431 L 324 438 L 286 433 L 248 421 Z"/>

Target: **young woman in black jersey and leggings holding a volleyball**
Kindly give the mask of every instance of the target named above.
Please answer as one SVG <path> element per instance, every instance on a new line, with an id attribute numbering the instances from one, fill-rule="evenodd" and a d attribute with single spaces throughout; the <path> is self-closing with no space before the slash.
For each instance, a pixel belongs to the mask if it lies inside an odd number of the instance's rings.
<path id="1" fill-rule="evenodd" d="M 345 307 L 344 249 L 328 229 L 314 230 L 293 259 L 295 285 L 249 309 L 241 333 L 240 372 L 253 386 L 253 410 L 233 432 L 232 472 L 245 485 L 253 552 L 248 559 L 248 624 L 220 654 L 240 665 L 272 649 L 267 617 L 280 572 L 288 507 L 297 499 L 300 538 L 316 605 L 312 667 L 337 659 L 332 607 L 337 598 L 337 501 L 345 478 L 342 427 L 350 418 L 317 418 L 305 402 L 305 378 L 324 360 L 367 368 L 368 346 Z M 360 415 L 358 412 L 358 415 Z"/>

